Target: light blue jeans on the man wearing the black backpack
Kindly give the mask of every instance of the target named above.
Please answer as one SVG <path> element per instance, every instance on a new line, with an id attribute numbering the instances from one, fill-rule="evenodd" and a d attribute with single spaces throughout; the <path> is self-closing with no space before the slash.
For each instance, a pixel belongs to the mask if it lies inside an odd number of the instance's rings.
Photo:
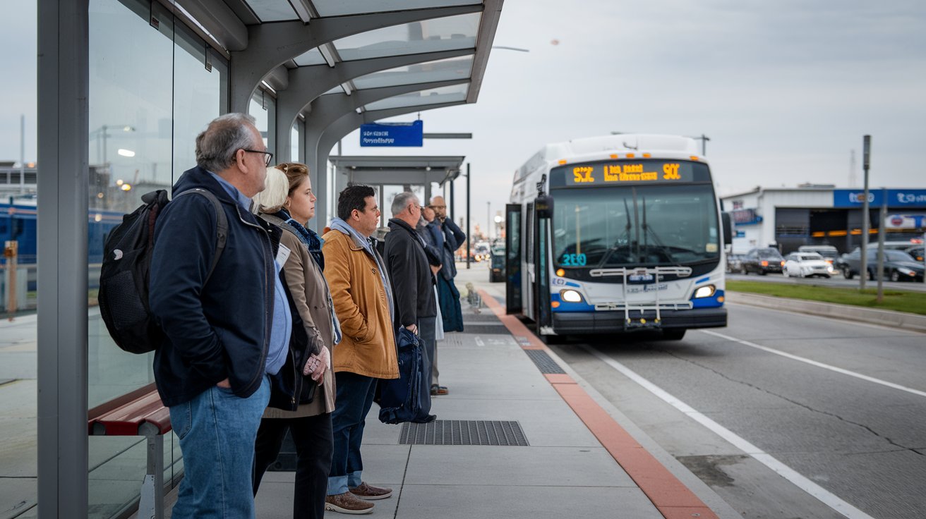
<path id="1" fill-rule="evenodd" d="M 183 454 L 183 480 L 173 519 L 255 516 L 251 471 L 260 416 L 270 398 L 268 377 L 244 399 L 232 389 L 206 389 L 170 408 Z"/>

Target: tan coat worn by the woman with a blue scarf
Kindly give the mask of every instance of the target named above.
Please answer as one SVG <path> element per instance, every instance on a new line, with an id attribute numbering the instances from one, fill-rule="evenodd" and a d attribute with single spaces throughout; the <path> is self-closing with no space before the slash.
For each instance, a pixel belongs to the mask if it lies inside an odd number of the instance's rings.
<path id="1" fill-rule="evenodd" d="M 318 328 L 321 338 L 325 341 L 325 347 L 331 353 L 334 344 L 334 327 L 331 315 L 328 313 L 328 283 L 319 264 L 308 252 L 306 244 L 299 240 L 299 237 L 287 226 L 281 225 L 282 219 L 273 215 L 261 215 L 261 217 L 282 228 L 280 243 L 291 251 L 289 257 L 286 258 L 286 263 L 283 264 L 283 277 L 286 278 L 286 285 L 293 295 L 293 302 L 299 311 L 303 326 L 307 328 L 307 333 L 311 333 L 309 329 L 311 327 Z M 296 418 L 332 411 L 334 411 L 334 373 L 329 369 L 325 371 L 324 383 L 315 389 L 315 398 L 312 402 L 300 405 L 299 409 L 292 412 L 268 407 L 264 411 L 264 417 Z"/>

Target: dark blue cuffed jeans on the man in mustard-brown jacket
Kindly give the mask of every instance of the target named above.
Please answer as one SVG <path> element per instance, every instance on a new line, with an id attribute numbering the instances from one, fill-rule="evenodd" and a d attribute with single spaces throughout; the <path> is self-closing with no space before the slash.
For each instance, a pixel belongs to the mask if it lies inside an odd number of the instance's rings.
<path id="1" fill-rule="evenodd" d="M 363 460 L 360 443 L 363 441 L 364 420 L 373 404 L 376 378 L 339 371 L 334 374 L 334 412 L 332 433 L 334 454 L 332 471 L 328 475 L 328 495 L 336 496 L 360 485 Z"/>

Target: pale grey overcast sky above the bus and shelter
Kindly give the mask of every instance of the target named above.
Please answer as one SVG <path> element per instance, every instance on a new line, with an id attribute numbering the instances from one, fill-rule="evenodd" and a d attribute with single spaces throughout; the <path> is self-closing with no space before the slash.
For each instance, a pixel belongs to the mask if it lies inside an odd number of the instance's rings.
<path id="1" fill-rule="evenodd" d="M 35 19 L 34 0 L 0 19 L 0 160 L 19 160 L 20 114 L 35 157 Z M 872 186 L 926 188 L 924 28 L 921 0 L 507 0 L 494 43 L 530 52 L 495 49 L 476 105 L 421 113 L 473 139 L 396 153 L 466 155 L 477 223 L 544 143 L 610 131 L 706 134 L 721 194 L 860 186 L 870 133 Z M 358 140 L 344 153 L 382 153 Z"/>

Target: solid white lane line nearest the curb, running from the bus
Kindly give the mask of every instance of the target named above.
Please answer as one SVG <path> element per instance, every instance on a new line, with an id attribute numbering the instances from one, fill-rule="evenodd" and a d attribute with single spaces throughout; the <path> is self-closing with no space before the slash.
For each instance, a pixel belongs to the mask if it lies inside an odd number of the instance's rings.
<path id="1" fill-rule="evenodd" d="M 703 331 L 703 330 L 702 330 Z M 839 499 L 838 496 L 827 490 L 826 488 L 820 487 L 820 485 L 814 483 L 810 479 L 807 479 L 806 476 L 802 476 L 795 471 L 795 469 L 789 467 L 788 465 L 776 460 L 769 453 L 762 451 L 757 446 L 749 443 L 745 439 L 734 434 L 730 429 L 721 426 L 717 422 L 711 420 L 704 414 L 698 412 L 693 407 L 688 405 L 685 402 L 675 398 L 670 395 L 665 389 L 659 388 L 656 384 L 653 384 L 644 377 L 640 377 L 634 373 L 629 367 L 620 364 L 618 361 L 608 357 L 606 354 L 594 350 L 590 346 L 584 344 L 579 345 L 583 350 L 593 354 L 601 362 L 613 367 L 622 373 L 625 377 L 630 378 L 632 381 L 636 382 L 644 389 L 656 395 L 658 398 L 669 403 L 672 407 L 678 409 L 684 414 L 690 416 L 695 422 L 706 426 L 707 429 L 712 431 L 714 434 L 720 436 L 720 438 L 729 441 L 737 449 L 744 451 L 746 454 L 754 458 L 758 463 L 769 467 L 771 470 L 775 471 L 776 474 L 782 476 L 783 478 L 790 481 L 797 488 L 800 488 L 810 494 L 817 500 L 820 500 L 826 506 L 832 508 L 838 513 L 843 514 L 845 517 L 850 519 L 874 519 L 868 513 L 864 513 L 858 510 L 856 507 L 845 502 L 844 500 Z"/>

